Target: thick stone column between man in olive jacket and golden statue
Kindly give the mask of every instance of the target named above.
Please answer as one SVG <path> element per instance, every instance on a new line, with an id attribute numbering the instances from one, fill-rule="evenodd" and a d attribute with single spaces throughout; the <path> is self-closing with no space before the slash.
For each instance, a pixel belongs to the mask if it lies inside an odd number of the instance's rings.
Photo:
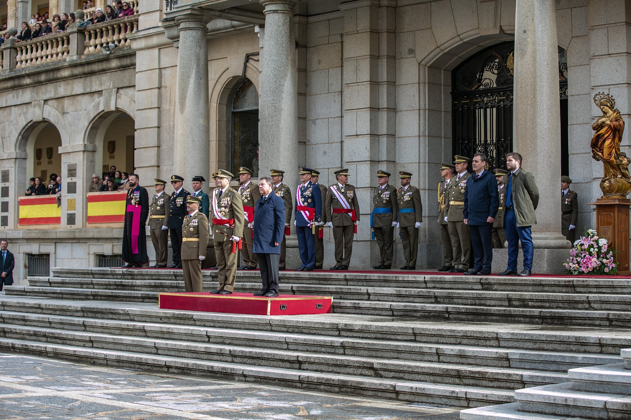
<path id="1" fill-rule="evenodd" d="M 514 150 L 539 188 L 536 249 L 569 248 L 561 234 L 561 132 L 557 18 L 553 0 L 517 0 L 515 19 Z M 550 267 L 561 253 L 548 253 Z M 538 259 L 535 256 L 535 260 Z M 533 267 L 533 271 L 536 271 Z M 539 271 L 541 272 L 541 271 Z"/>

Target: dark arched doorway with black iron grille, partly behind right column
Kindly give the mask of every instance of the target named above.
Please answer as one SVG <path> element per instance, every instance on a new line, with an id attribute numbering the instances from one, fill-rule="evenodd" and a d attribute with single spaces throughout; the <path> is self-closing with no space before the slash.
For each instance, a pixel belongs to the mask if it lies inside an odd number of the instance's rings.
<path id="1" fill-rule="evenodd" d="M 561 168 L 568 172 L 567 54 L 558 47 L 561 105 Z M 485 48 L 452 71 L 452 152 L 487 155 L 491 167 L 504 167 L 512 150 L 514 42 Z"/>

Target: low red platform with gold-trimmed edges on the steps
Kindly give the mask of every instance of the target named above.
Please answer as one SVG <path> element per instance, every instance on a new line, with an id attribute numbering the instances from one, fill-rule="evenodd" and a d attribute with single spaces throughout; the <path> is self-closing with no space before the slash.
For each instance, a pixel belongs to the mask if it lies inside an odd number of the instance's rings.
<path id="1" fill-rule="evenodd" d="M 252 293 L 211 295 L 208 292 L 160 293 L 160 309 L 199 310 L 224 314 L 246 315 L 311 315 L 330 314 L 330 296 L 279 295 L 257 297 Z"/>

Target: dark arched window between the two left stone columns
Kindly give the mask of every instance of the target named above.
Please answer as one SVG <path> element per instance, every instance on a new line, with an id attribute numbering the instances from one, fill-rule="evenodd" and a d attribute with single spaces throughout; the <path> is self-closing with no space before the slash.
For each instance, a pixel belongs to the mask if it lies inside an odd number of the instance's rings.
<path id="1" fill-rule="evenodd" d="M 259 94 L 254 84 L 246 80 L 232 99 L 232 173 L 239 166 L 259 173 Z"/>

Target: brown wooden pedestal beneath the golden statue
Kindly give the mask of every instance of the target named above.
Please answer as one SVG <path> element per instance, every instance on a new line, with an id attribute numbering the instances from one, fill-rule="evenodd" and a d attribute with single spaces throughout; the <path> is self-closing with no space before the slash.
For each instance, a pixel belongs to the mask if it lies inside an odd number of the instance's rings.
<path id="1" fill-rule="evenodd" d="M 618 254 L 618 273 L 629 274 L 629 206 L 628 198 L 599 198 L 596 203 L 596 232 L 609 241 Z"/>

